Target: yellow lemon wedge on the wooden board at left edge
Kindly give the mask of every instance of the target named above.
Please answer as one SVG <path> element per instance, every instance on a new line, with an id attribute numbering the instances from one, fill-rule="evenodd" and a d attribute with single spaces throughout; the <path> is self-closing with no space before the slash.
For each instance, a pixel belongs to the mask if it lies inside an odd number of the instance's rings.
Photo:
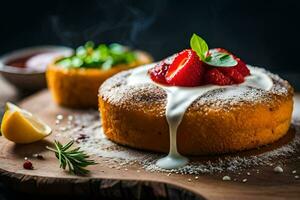
<path id="1" fill-rule="evenodd" d="M 36 142 L 51 134 L 51 128 L 32 113 L 12 103 L 6 103 L 1 123 L 2 135 L 20 144 Z"/>

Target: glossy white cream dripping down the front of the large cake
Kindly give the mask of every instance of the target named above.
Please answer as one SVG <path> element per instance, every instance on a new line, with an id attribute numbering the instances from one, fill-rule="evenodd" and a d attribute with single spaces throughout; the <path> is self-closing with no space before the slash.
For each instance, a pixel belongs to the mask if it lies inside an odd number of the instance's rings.
<path id="1" fill-rule="evenodd" d="M 151 80 L 148 75 L 148 70 L 155 66 L 156 63 L 145 65 L 136 68 L 132 71 L 132 74 L 128 77 L 128 85 L 138 84 L 153 84 L 156 85 L 167 93 L 167 105 L 166 105 L 166 118 L 169 124 L 170 132 L 170 149 L 169 154 L 166 157 L 159 159 L 156 165 L 164 169 L 175 169 L 183 167 L 188 163 L 188 158 L 180 155 L 177 151 L 177 128 L 180 125 L 186 109 L 200 96 L 205 93 L 224 88 L 237 89 L 245 87 L 255 87 L 263 90 L 270 90 L 273 86 L 272 79 L 264 73 L 263 70 L 248 66 L 251 75 L 245 78 L 242 84 L 230 85 L 230 86 L 218 86 L 218 85 L 204 85 L 198 87 L 178 87 L 178 86 L 164 86 L 157 84 Z"/>

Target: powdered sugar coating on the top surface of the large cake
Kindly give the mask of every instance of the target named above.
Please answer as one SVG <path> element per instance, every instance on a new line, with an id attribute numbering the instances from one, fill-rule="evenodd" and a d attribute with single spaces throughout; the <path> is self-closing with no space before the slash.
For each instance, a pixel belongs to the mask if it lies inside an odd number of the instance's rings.
<path id="1" fill-rule="evenodd" d="M 153 65 L 141 67 L 150 68 Z M 207 106 L 230 110 L 242 107 L 244 104 L 256 106 L 264 103 L 272 107 L 272 104 L 284 101 L 285 98 L 293 95 L 293 89 L 287 81 L 262 68 L 249 67 L 267 74 L 274 83 L 273 87 L 269 91 L 254 87 L 238 87 L 230 89 L 225 94 L 224 88 L 215 89 L 196 99 L 189 106 L 187 112 L 194 110 L 199 112 L 199 108 L 202 109 Z M 149 83 L 138 86 L 128 85 L 127 78 L 131 73 L 132 70 L 121 72 L 106 80 L 99 89 L 99 95 L 105 101 L 116 106 L 129 107 L 134 104 L 139 109 L 149 107 L 149 103 L 153 103 L 159 111 L 157 114 L 165 115 L 166 92 L 162 88 Z M 203 110 L 203 112 L 206 111 Z"/>

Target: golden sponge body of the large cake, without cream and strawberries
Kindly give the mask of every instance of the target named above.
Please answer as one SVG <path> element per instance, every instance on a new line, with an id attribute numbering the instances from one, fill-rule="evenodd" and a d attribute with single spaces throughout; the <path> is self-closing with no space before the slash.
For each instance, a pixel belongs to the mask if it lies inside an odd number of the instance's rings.
<path id="1" fill-rule="evenodd" d="M 268 73 L 270 91 L 246 88 L 230 95 L 208 92 L 187 109 L 177 141 L 182 154 L 203 155 L 240 151 L 278 140 L 289 129 L 293 89 Z M 106 136 L 134 148 L 168 152 L 169 127 L 165 118 L 166 93 L 152 84 L 129 86 L 130 71 L 105 81 L 99 107 Z"/>

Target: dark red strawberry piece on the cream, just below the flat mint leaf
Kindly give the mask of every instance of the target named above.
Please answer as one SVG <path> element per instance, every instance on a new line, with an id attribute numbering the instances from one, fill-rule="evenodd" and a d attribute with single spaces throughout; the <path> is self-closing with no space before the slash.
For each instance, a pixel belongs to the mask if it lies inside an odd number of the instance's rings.
<path id="1" fill-rule="evenodd" d="M 204 81 L 206 84 L 213 84 L 213 85 L 234 84 L 234 82 L 229 77 L 225 76 L 222 72 L 220 72 L 216 68 L 209 69 L 205 72 Z"/>

